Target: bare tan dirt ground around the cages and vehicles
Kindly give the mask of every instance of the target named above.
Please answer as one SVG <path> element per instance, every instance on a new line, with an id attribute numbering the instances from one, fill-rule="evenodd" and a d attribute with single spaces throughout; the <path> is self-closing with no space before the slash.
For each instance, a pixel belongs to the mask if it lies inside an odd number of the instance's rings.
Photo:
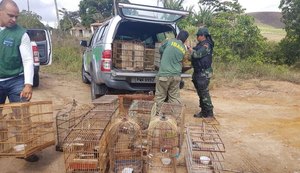
<path id="1" fill-rule="evenodd" d="M 223 166 L 231 172 L 300 173 L 300 85 L 280 81 L 250 80 L 212 87 L 217 126 L 225 144 Z M 191 86 L 181 91 L 186 123 L 199 111 Z M 33 101 L 52 100 L 54 115 L 77 100 L 89 104 L 90 88 L 80 79 L 41 74 Z M 0 158 L 1 173 L 63 173 L 63 153 L 54 146 L 39 153 L 40 161 Z M 178 172 L 186 172 L 182 166 Z"/>

